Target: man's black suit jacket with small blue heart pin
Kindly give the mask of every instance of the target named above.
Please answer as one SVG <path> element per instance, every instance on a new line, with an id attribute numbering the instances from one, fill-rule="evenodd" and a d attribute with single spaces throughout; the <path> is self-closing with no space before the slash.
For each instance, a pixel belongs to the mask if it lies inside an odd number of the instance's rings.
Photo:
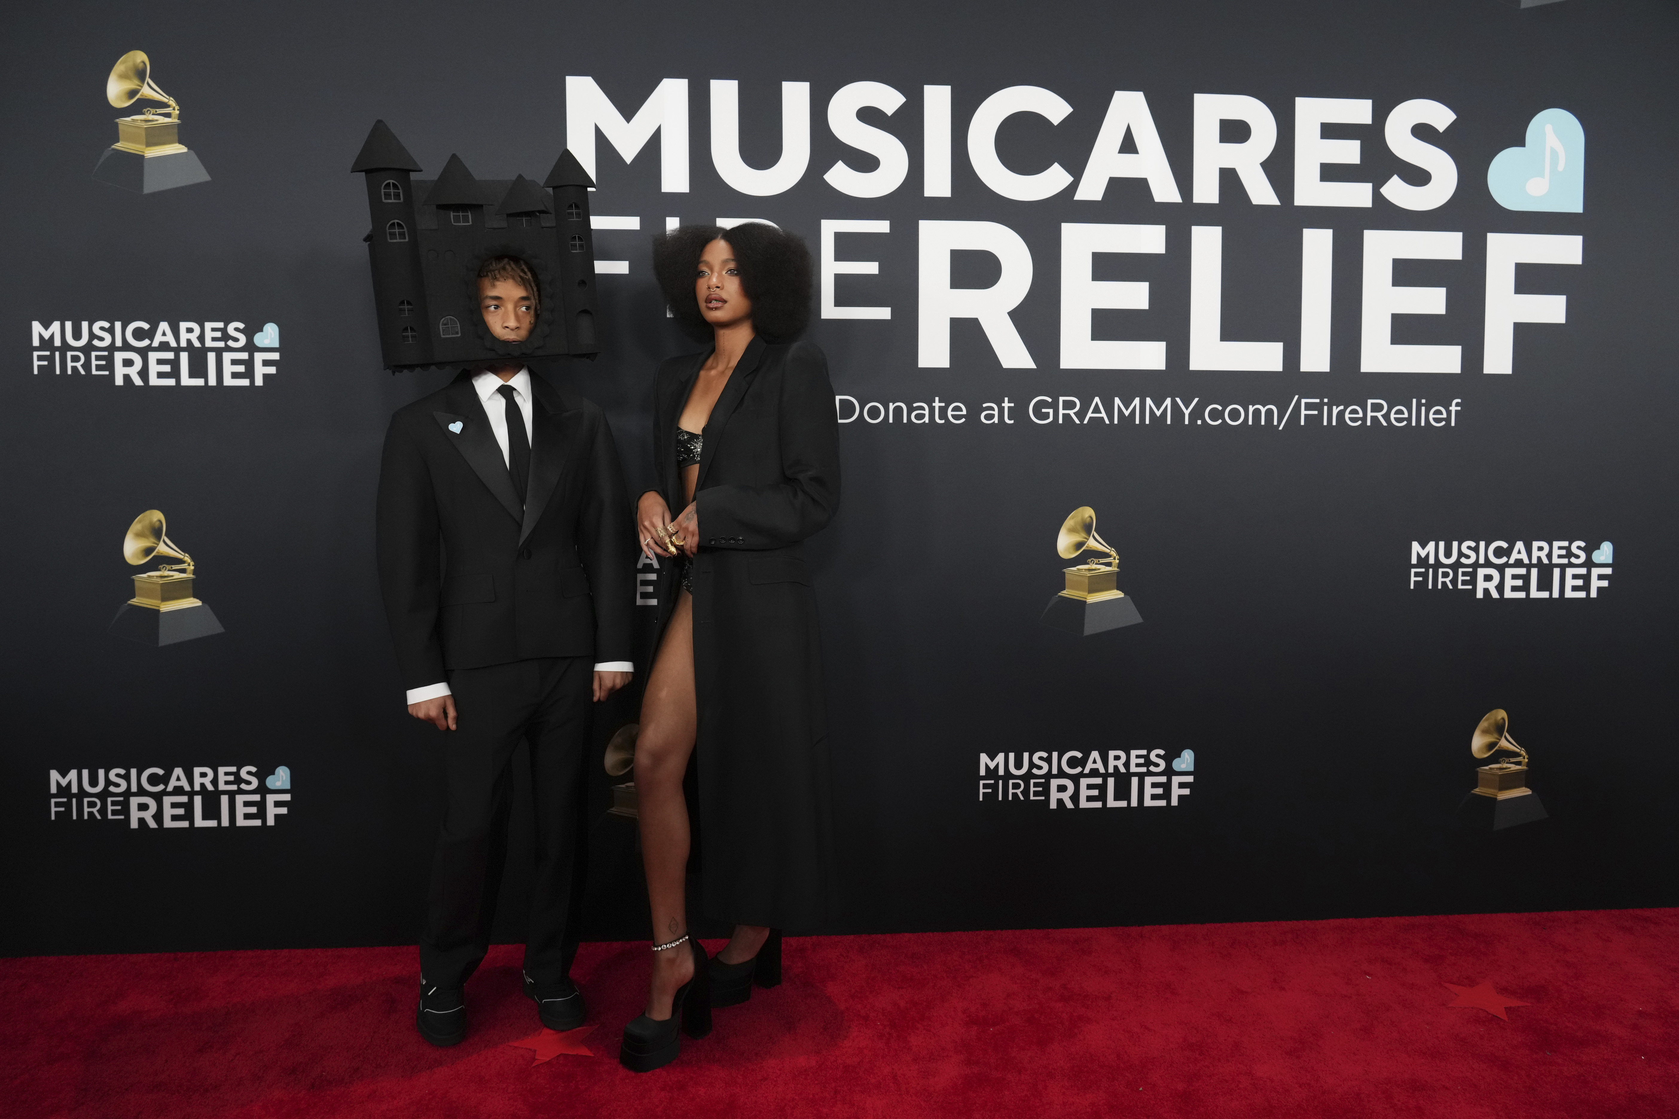
<path id="1" fill-rule="evenodd" d="M 468 372 L 391 416 L 378 559 L 406 688 L 541 656 L 631 659 L 635 525 L 611 428 L 534 372 L 531 389 L 522 503 Z"/>

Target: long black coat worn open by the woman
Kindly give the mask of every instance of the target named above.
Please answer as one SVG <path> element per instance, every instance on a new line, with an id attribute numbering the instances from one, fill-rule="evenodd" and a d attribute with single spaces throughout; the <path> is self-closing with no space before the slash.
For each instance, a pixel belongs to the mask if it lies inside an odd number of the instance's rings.
<path id="1" fill-rule="evenodd" d="M 682 512 L 677 419 L 709 352 L 658 369 L 656 488 Z M 833 908 L 833 827 L 816 591 L 804 540 L 840 505 L 828 359 L 754 339 L 705 424 L 695 500 L 695 743 L 704 908 L 742 924 L 811 928 Z M 675 606 L 662 564 L 660 634 Z"/>

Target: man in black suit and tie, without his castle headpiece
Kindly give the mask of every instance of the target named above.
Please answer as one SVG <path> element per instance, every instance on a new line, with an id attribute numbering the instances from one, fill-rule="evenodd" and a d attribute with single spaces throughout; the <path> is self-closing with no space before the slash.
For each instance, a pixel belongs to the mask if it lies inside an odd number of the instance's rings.
<path id="1" fill-rule="evenodd" d="M 541 314 L 524 262 L 479 272 L 485 327 L 520 342 Z M 589 700 L 630 681 L 635 528 L 599 408 L 517 361 L 465 369 L 391 418 L 378 559 L 408 713 L 447 730 L 447 810 L 420 938 L 420 1033 L 467 1033 L 507 851 L 512 755 L 531 747 L 536 876 L 526 995 L 583 1025 L 569 978 L 583 901 Z"/>

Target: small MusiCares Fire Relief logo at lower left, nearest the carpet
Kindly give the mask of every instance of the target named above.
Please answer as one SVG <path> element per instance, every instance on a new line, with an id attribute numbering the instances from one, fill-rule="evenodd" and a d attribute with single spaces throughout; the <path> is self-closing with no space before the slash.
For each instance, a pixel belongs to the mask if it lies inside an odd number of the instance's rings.
<path id="1" fill-rule="evenodd" d="M 257 765 L 71 768 L 64 773 L 47 770 L 47 819 L 101 824 L 126 820 L 129 830 L 277 827 L 277 820 L 290 814 L 287 804 L 292 799 L 292 772 L 279 765 L 259 778 L 260 772 L 262 767 Z M 270 792 L 250 792 L 262 787 Z"/>

